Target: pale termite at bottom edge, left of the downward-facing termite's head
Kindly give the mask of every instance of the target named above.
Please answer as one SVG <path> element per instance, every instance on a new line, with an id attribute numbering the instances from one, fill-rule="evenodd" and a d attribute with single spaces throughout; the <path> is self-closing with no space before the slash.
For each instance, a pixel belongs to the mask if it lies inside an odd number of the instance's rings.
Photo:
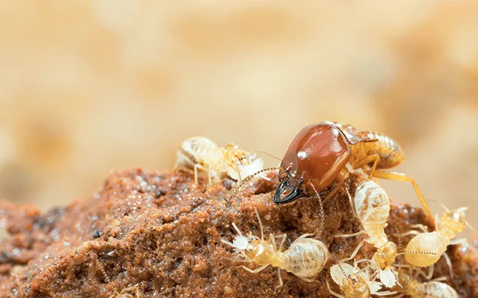
<path id="1" fill-rule="evenodd" d="M 339 298 L 368 298 L 371 295 L 380 295 L 382 285 L 373 281 L 373 277 L 357 268 L 357 266 L 348 263 L 337 263 L 330 268 L 330 277 L 339 285 L 344 295 L 340 295 L 333 290 L 327 283 L 328 291 L 331 295 Z"/>

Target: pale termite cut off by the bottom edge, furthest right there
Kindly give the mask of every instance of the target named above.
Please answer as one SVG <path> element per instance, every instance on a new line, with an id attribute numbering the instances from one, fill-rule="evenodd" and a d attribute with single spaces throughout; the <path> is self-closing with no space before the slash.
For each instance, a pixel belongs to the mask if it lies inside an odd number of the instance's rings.
<path id="1" fill-rule="evenodd" d="M 443 278 L 421 283 L 416 280 L 416 277 L 412 277 L 411 274 L 404 272 L 403 270 L 398 270 L 398 281 L 400 286 L 394 286 L 389 292 L 384 293 L 386 293 L 386 295 L 402 293 L 402 295 L 396 297 L 409 295 L 412 298 L 458 298 L 457 291 L 448 284 L 442 283 L 441 280 L 443 280 Z"/>

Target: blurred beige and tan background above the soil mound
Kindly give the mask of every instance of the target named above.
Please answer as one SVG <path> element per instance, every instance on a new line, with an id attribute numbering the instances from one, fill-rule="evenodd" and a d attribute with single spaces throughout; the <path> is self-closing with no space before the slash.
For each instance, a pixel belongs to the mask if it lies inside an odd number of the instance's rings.
<path id="1" fill-rule="evenodd" d="M 478 2 L 283 2 L 1 1 L 0 198 L 66 204 L 194 135 L 282 156 L 328 119 L 394 137 L 478 227 Z"/>

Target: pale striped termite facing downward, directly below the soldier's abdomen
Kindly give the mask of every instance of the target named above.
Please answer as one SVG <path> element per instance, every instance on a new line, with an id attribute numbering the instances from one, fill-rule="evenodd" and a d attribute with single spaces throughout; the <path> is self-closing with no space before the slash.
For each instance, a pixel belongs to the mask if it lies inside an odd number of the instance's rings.
<path id="1" fill-rule="evenodd" d="M 372 180 L 363 179 L 357 184 L 353 198 L 348 189 L 346 189 L 346 193 L 355 216 L 360 220 L 362 230 L 354 234 L 336 235 L 336 237 L 366 234 L 368 238 L 362 240 L 351 256 L 342 261 L 355 258 L 358 250 L 365 242 L 372 244 L 377 248 L 377 251 L 373 254 L 371 260 L 364 261 L 372 263 L 375 270 L 378 271 L 380 282 L 387 286 L 387 288 L 391 288 L 396 284 L 396 272 L 393 270 L 393 264 L 397 256 L 400 254 L 434 255 L 434 252 L 427 252 L 426 250 L 414 251 L 412 249 L 401 253 L 397 252 L 397 245 L 388 240 L 387 234 L 384 231 L 385 227 L 387 227 L 387 219 L 390 213 L 389 195 L 378 184 Z"/>

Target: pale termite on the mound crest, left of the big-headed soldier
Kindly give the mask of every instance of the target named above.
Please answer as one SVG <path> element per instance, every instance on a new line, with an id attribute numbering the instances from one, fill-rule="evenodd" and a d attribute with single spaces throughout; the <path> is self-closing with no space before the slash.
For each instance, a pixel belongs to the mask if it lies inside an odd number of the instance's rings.
<path id="1" fill-rule="evenodd" d="M 198 170 L 208 175 L 209 185 L 213 180 L 229 175 L 232 179 L 242 180 L 263 169 L 263 160 L 251 152 L 242 150 L 233 143 L 219 147 L 205 137 L 192 137 L 182 143 L 177 151 L 176 166 L 194 170 L 197 185 Z"/>

